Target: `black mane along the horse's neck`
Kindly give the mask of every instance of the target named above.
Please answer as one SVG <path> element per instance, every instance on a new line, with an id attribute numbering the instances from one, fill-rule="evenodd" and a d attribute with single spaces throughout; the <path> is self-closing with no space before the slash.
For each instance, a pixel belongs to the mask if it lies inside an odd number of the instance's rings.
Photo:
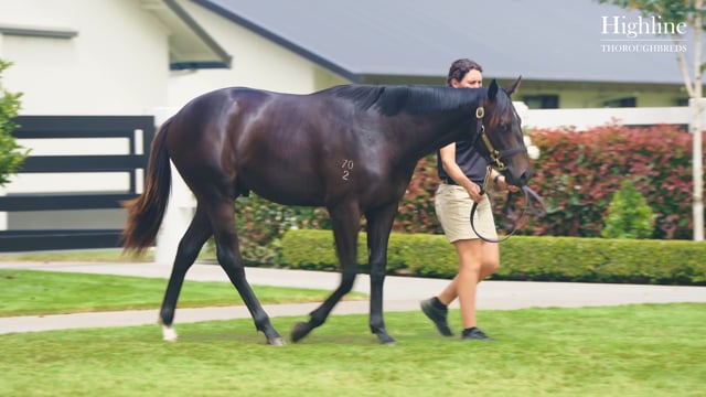
<path id="1" fill-rule="evenodd" d="M 352 100 L 360 109 L 375 108 L 386 116 L 394 116 L 402 111 L 425 115 L 453 110 L 470 104 L 478 97 L 478 95 L 469 95 L 467 89 L 425 85 L 342 85 L 330 88 L 329 92 L 334 96 Z"/>

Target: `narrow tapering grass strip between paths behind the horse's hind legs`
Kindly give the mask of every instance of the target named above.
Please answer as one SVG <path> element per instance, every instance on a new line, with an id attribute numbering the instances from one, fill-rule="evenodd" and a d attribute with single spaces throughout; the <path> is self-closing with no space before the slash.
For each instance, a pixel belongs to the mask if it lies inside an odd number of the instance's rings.
<path id="1" fill-rule="evenodd" d="M 39 270 L 0 270 L 0 318 L 93 311 L 156 309 L 165 279 Z M 323 301 L 331 291 L 253 286 L 263 304 Z M 351 293 L 346 299 L 365 299 Z M 184 282 L 179 308 L 243 304 L 229 282 Z"/>

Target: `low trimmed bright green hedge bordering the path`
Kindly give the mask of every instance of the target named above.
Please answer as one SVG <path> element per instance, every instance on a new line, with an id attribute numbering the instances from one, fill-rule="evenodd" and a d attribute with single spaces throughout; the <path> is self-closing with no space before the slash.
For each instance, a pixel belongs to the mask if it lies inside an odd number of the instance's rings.
<path id="1" fill-rule="evenodd" d="M 357 261 L 367 270 L 365 234 Z M 514 236 L 501 246 L 501 267 L 491 279 L 706 286 L 706 242 Z M 295 269 L 335 270 L 330 230 L 289 230 L 282 255 Z M 387 272 L 452 278 L 453 247 L 442 235 L 393 233 Z"/>

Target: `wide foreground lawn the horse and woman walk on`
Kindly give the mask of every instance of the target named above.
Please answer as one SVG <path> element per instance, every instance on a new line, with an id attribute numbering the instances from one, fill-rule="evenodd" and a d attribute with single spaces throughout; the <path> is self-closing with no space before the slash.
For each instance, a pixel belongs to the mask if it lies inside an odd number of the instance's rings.
<path id="1" fill-rule="evenodd" d="M 0 335 L 1 396 L 703 396 L 703 303 L 481 311 L 496 342 L 442 337 L 391 312 L 332 315 L 299 344 L 265 345 L 249 319 Z M 450 311 L 452 328 L 459 312 Z M 286 334 L 302 318 L 275 318 Z M 0 319 L 1 323 L 1 319 Z"/>

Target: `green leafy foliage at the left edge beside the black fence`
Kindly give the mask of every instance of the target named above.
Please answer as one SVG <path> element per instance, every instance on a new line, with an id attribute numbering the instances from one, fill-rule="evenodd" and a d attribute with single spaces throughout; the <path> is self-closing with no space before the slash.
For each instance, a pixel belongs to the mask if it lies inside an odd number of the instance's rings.
<path id="1" fill-rule="evenodd" d="M 12 64 L 0 60 L 0 77 L 10 65 Z M 4 90 L 0 79 L 0 186 L 4 186 L 10 181 L 9 175 L 17 171 L 28 154 L 28 151 L 23 151 L 11 135 L 18 127 L 12 119 L 20 110 L 21 96 L 21 93 L 11 94 Z"/>

